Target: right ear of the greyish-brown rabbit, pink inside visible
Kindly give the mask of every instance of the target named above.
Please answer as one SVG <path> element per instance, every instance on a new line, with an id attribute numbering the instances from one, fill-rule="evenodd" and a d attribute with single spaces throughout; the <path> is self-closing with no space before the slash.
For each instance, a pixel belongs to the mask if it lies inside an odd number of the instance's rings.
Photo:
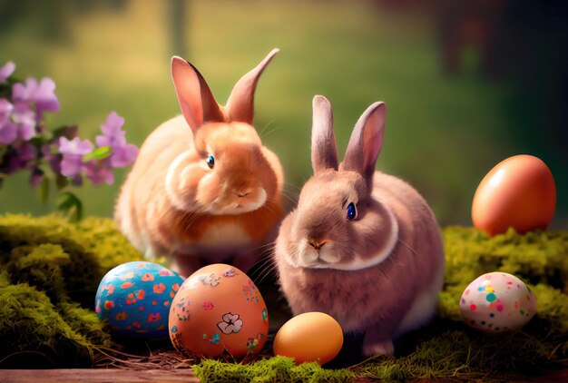
<path id="1" fill-rule="evenodd" d="M 378 153 L 383 147 L 385 103 L 373 103 L 361 114 L 345 152 L 342 170 L 359 172 L 369 184 L 373 179 Z"/>

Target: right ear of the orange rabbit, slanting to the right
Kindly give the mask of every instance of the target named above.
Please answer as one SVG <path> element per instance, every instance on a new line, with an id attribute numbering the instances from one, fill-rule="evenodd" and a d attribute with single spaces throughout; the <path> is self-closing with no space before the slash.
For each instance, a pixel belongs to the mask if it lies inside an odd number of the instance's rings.
<path id="1" fill-rule="evenodd" d="M 229 121 L 252 123 L 254 111 L 254 91 L 257 87 L 260 74 L 269 64 L 270 60 L 279 53 L 279 49 L 270 51 L 260 64 L 243 75 L 230 92 L 229 100 L 225 106 L 225 116 Z"/>

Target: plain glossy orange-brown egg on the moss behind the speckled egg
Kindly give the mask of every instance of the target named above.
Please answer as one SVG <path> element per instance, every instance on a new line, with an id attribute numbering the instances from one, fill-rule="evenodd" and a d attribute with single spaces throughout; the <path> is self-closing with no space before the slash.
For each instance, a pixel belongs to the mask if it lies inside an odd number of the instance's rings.
<path id="1" fill-rule="evenodd" d="M 556 208 L 553 173 L 532 155 L 499 162 L 475 191 L 472 219 L 493 236 L 512 227 L 519 233 L 546 229 Z"/>

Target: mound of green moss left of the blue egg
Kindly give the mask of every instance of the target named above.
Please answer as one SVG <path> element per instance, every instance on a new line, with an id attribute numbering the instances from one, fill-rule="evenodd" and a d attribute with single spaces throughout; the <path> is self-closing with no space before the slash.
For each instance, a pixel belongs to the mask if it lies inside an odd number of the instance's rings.
<path id="1" fill-rule="evenodd" d="M 112 346 L 92 310 L 98 284 L 140 259 L 108 219 L 1 216 L 0 360 L 11 366 L 34 353 L 51 367 L 89 366 L 93 349 Z"/>

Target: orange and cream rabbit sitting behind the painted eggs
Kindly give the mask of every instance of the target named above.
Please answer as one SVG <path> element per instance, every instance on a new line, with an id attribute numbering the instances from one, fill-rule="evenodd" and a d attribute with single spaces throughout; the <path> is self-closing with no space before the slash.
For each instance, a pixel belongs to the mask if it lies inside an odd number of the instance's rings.
<path id="1" fill-rule="evenodd" d="M 283 214 L 278 157 L 251 126 L 254 92 L 275 49 L 220 106 L 198 70 L 171 59 L 182 115 L 162 123 L 122 185 L 115 220 L 149 259 L 167 256 L 182 276 L 204 264 L 246 271 Z"/>

